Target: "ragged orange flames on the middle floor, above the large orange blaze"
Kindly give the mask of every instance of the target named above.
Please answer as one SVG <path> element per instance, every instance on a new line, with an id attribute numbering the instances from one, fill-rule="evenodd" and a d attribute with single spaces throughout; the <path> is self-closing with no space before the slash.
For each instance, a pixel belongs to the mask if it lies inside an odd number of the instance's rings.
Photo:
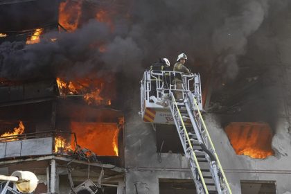
<path id="1" fill-rule="evenodd" d="M 61 96 L 82 95 L 88 105 L 111 105 L 111 99 L 102 95 L 102 91 L 109 85 L 101 79 L 64 81 L 57 78 L 56 81 Z"/>

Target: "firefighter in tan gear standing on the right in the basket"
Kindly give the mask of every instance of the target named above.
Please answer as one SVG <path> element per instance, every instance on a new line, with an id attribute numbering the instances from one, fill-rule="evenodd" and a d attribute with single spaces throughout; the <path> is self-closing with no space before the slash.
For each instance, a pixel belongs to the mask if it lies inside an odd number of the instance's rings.
<path id="1" fill-rule="evenodd" d="M 185 67 L 185 63 L 187 61 L 187 56 L 184 53 L 178 55 L 177 62 L 174 65 L 173 71 L 178 71 L 182 73 L 191 73 L 191 71 Z M 182 73 L 176 73 L 175 79 L 173 80 L 173 85 L 176 85 L 176 89 L 183 89 L 183 81 L 182 81 Z M 177 99 L 183 99 L 183 92 L 176 91 L 175 97 Z"/>

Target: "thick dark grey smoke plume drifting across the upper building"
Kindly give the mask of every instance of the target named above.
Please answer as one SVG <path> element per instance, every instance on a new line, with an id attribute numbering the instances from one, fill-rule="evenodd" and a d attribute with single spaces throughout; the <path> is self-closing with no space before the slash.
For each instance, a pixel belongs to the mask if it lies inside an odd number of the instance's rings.
<path id="1" fill-rule="evenodd" d="M 83 1 L 90 3 L 91 1 Z M 96 5 L 95 5 L 96 6 Z M 99 9 L 109 10 L 108 5 Z M 114 6 L 114 4 L 112 4 Z M 125 1 L 126 15 L 110 15 L 114 30 L 96 19 L 72 33 L 48 33 L 39 44 L 3 43 L 2 78 L 28 78 L 47 73 L 85 76 L 92 70 L 123 71 L 136 76 L 159 57 L 172 64 L 179 53 L 215 68 L 223 79 L 235 78 L 238 57 L 248 37 L 267 18 L 269 1 Z M 82 7 L 82 14 L 88 6 Z M 49 42 L 48 37 L 58 41 Z M 98 46 L 105 44 L 106 51 Z"/>

